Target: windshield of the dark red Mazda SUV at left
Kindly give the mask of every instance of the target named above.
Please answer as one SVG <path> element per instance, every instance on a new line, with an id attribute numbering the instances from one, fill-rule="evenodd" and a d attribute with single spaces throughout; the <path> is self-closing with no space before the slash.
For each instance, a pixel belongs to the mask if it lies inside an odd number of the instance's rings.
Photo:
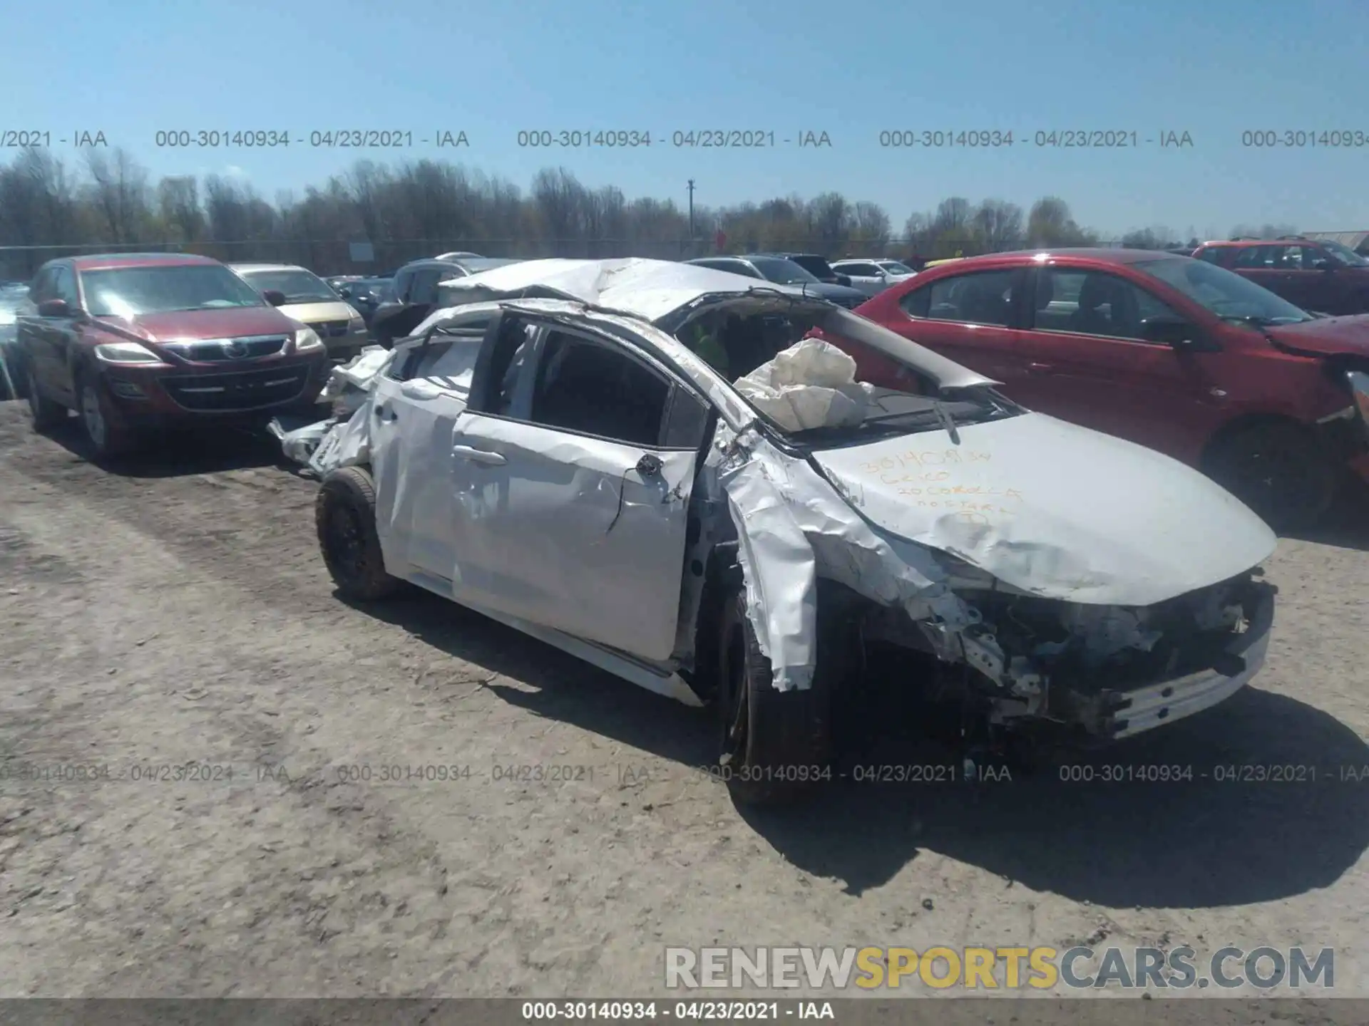
<path id="1" fill-rule="evenodd" d="M 81 286 L 93 317 L 267 305 L 251 285 L 219 264 L 82 271 Z"/>

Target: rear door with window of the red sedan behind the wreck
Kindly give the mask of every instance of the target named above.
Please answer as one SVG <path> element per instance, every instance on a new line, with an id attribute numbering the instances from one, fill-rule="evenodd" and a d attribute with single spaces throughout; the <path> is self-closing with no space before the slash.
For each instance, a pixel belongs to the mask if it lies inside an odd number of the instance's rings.
<path id="1" fill-rule="evenodd" d="M 1003 382 L 1012 395 L 1027 373 L 1017 346 L 1025 274 L 997 268 L 927 282 L 899 297 L 899 312 L 884 327 Z"/>

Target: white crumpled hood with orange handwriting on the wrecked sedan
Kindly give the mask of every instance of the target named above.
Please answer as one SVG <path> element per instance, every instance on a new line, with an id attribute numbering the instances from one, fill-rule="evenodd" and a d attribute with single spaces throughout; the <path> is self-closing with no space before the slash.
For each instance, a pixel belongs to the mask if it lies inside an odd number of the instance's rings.
<path id="1" fill-rule="evenodd" d="M 1014 588 L 1150 606 L 1243 573 L 1273 531 L 1184 464 L 1040 413 L 815 454 L 884 531 Z"/>

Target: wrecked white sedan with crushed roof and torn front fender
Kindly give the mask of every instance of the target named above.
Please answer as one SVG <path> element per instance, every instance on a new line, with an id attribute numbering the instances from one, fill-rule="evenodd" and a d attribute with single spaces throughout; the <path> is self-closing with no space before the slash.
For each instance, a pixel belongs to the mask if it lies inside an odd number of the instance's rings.
<path id="1" fill-rule="evenodd" d="M 716 705 L 743 800 L 830 777 L 871 644 L 986 736 L 1088 743 L 1265 659 L 1275 535 L 1244 505 L 845 309 L 637 259 L 444 287 L 316 454 L 338 590 L 409 581 Z"/>

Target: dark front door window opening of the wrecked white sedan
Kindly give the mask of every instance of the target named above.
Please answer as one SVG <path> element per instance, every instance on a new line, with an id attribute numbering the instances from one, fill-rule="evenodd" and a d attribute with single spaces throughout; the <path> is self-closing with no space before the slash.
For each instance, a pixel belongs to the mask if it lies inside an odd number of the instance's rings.
<path id="1" fill-rule="evenodd" d="M 671 384 L 632 357 L 552 331 L 542 349 L 530 420 L 543 427 L 657 447 Z"/>

